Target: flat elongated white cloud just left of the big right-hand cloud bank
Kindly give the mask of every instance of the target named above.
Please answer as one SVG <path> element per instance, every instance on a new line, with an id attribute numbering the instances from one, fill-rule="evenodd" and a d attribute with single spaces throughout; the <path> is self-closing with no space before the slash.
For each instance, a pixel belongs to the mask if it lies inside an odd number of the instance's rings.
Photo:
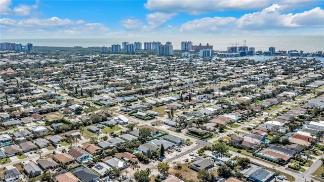
<path id="1" fill-rule="evenodd" d="M 220 31 L 219 28 L 232 26 L 235 20 L 234 17 L 201 18 L 182 24 L 180 31 L 215 32 Z"/>

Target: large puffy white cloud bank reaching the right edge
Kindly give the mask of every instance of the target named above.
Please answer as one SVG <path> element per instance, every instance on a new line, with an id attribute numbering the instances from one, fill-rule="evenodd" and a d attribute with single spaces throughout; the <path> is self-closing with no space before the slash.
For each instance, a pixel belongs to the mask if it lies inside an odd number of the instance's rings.
<path id="1" fill-rule="evenodd" d="M 240 29 L 281 29 L 303 26 L 324 26 L 324 12 L 320 8 L 293 15 L 281 14 L 282 6 L 273 4 L 260 12 L 240 17 L 236 24 Z"/>

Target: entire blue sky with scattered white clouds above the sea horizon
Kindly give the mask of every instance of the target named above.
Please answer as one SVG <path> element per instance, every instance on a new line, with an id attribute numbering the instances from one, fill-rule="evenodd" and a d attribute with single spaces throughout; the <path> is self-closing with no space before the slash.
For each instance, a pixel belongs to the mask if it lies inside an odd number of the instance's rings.
<path id="1" fill-rule="evenodd" d="M 324 35 L 324 1 L 0 1 L 13 38 Z"/>

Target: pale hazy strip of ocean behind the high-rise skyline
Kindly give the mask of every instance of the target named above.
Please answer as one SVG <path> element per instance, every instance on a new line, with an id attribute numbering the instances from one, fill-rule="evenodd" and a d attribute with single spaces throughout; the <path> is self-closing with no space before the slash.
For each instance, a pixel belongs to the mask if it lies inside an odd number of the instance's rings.
<path id="1" fill-rule="evenodd" d="M 324 51 L 324 34 L 323 35 L 259 35 L 259 36 L 220 36 L 220 35 L 206 35 L 206 36 L 170 36 L 170 37 L 125 37 L 125 38 L 58 38 L 58 39 L 0 39 L 0 42 L 15 42 L 26 45 L 28 42 L 33 43 L 34 46 L 50 46 L 50 47 L 111 47 L 112 44 L 121 44 L 121 42 L 142 42 L 144 41 L 160 41 L 165 43 L 171 41 L 174 50 L 181 49 L 182 41 L 191 41 L 193 45 L 199 43 L 206 45 L 209 43 L 214 46 L 214 50 L 227 50 L 227 47 L 235 45 L 246 45 L 254 47 L 256 51 L 268 51 L 269 47 L 275 47 L 276 51 L 297 50 L 305 53 L 314 53 L 317 51 Z"/>

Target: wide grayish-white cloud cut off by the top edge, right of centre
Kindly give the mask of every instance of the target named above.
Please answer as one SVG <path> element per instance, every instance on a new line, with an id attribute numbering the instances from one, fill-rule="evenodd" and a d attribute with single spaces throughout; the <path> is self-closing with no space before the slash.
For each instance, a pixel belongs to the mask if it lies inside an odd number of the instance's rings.
<path id="1" fill-rule="evenodd" d="M 157 12 L 185 12 L 193 15 L 225 10 L 258 10 L 269 5 L 269 0 L 148 0 L 144 7 Z"/>

